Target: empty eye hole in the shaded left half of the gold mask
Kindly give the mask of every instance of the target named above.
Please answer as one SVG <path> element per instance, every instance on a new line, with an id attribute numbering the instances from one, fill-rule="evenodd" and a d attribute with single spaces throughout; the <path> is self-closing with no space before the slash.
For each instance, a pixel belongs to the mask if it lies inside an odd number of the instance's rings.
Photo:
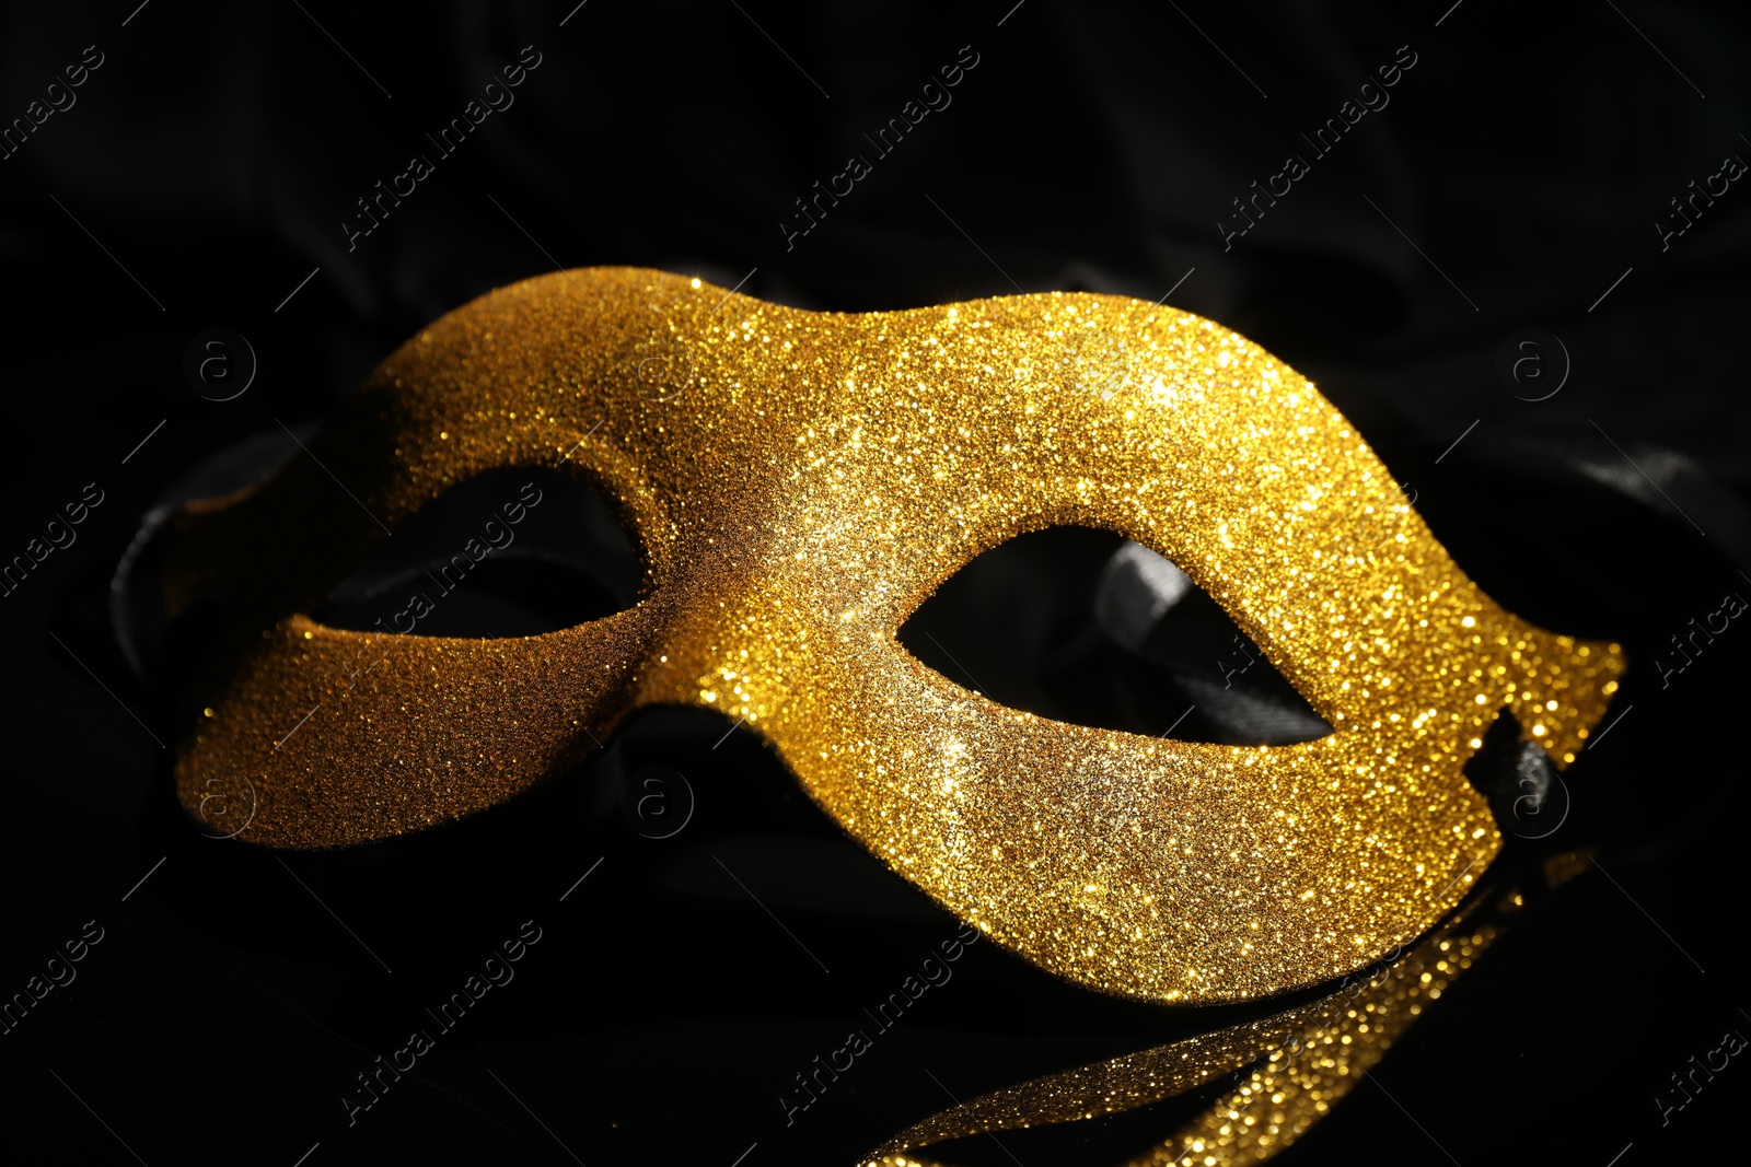
<path id="1" fill-rule="evenodd" d="M 550 469 L 452 486 L 382 541 L 312 612 L 331 628 L 529 637 L 622 612 L 644 579 L 613 506 Z"/>

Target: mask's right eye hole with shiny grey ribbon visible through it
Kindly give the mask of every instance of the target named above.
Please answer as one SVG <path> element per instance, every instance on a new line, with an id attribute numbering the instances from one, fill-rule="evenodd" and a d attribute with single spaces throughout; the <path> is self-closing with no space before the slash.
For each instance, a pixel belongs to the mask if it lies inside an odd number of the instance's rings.
<path id="1" fill-rule="evenodd" d="M 1054 721 L 1227 745 L 1333 731 L 1215 600 L 1112 532 L 1009 539 L 949 577 L 898 639 L 961 688 Z"/>

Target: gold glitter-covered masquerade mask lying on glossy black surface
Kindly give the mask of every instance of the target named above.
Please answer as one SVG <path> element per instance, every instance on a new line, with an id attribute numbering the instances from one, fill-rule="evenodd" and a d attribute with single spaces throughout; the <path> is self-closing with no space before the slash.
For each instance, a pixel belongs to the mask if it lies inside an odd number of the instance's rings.
<path id="1" fill-rule="evenodd" d="M 618 504 L 644 556 L 634 607 L 490 640 L 308 616 L 385 532 L 501 467 L 562 467 Z M 1236 747 L 1049 721 L 900 646 L 960 567 L 1054 525 L 1168 556 L 1333 733 Z M 1422 934 L 1501 849 L 1460 772 L 1488 726 L 1511 712 L 1560 768 L 1623 668 L 1483 595 L 1294 369 L 1091 294 L 844 315 L 643 269 L 501 289 L 403 345 L 308 455 L 173 520 L 166 609 L 215 586 L 228 672 L 175 773 L 194 815 L 249 805 L 238 838 L 461 819 L 641 707 L 695 705 L 998 943 L 1177 1003 L 1315 983 Z"/>

